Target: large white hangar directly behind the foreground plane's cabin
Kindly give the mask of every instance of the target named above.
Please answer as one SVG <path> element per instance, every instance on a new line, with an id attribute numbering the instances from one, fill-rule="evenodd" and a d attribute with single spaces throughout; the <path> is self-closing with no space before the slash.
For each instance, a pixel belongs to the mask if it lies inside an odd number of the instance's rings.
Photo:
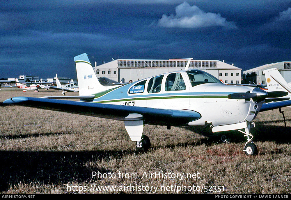
<path id="1" fill-rule="evenodd" d="M 141 60 L 117 59 L 93 67 L 97 77 L 128 83 L 166 72 L 185 69 L 187 60 Z M 191 60 L 188 69 L 199 69 L 210 73 L 225 83 L 240 84 L 242 69 L 219 60 Z"/>

